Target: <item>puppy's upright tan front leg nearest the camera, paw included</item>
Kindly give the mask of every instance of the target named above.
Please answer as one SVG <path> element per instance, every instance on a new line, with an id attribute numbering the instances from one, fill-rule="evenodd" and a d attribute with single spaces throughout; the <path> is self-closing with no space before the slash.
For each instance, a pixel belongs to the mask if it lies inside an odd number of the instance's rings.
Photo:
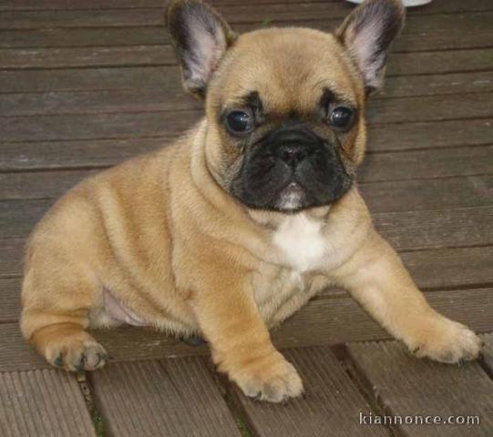
<path id="1" fill-rule="evenodd" d="M 272 345 L 249 280 L 233 269 L 205 279 L 191 298 L 212 359 L 250 397 L 285 401 L 303 392 L 293 365 Z"/>

